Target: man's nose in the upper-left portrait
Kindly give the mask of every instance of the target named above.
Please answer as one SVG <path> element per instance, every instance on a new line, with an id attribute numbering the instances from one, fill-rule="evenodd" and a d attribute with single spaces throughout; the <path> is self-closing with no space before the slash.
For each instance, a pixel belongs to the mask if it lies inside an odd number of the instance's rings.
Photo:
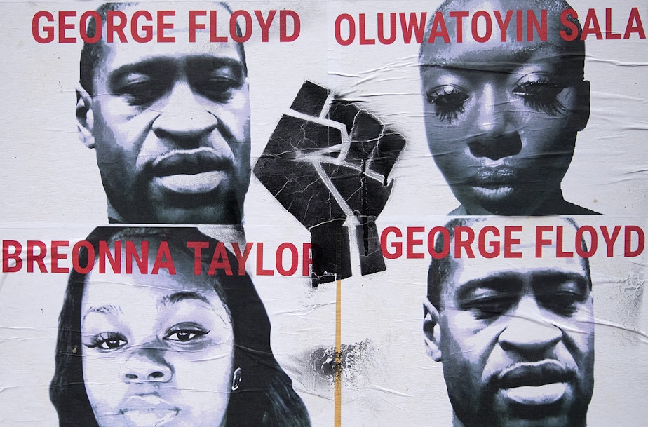
<path id="1" fill-rule="evenodd" d="M 191 144 L 210 133 L 218 125 L 218 118 L 200 100 L 189 83 L 178 81 L 171 88 L 166 103 L 153 122 L 158 138 L 170 138 Z"/>

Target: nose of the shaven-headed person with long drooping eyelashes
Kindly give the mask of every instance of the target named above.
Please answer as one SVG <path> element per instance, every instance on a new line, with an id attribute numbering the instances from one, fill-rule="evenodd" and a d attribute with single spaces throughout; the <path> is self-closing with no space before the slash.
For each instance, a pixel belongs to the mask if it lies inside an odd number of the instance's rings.
<path id="1" fill-rule="evenodd" d="M 515 156 L 522 150 L 522 139 L 513 121 L 513 106 L 497 85 L 482 88 L 481 104 L 477 107 L 475 133 L 468 140 L 468 148 L 475 157 L 498 160 Z"/>

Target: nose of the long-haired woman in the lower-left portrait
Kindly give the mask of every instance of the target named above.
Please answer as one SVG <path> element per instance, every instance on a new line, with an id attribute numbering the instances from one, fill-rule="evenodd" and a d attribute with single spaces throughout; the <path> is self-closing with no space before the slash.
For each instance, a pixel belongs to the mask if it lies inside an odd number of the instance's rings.
<path id="1" fill-rule="evenodd" d="M 138 348 L 130 353 L 121 367 L 125 383 L 166 383 L 171 381 L 173 370 L 164 358 L 161 348 Z"/>

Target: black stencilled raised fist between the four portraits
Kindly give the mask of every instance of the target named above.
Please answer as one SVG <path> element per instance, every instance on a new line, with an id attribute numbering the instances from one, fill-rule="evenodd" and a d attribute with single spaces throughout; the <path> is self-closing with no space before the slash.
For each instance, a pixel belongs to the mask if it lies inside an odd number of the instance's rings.
<path id="1" fill-rule="evenodd" d="M 403 136 L 356 102 L 310 81 L 302 85 L 254 172 L 311 232 L 313 285 L 351 276 L 351 245 L 363 276 L 384 271 L 375 220 L 403 147 Z"/>

